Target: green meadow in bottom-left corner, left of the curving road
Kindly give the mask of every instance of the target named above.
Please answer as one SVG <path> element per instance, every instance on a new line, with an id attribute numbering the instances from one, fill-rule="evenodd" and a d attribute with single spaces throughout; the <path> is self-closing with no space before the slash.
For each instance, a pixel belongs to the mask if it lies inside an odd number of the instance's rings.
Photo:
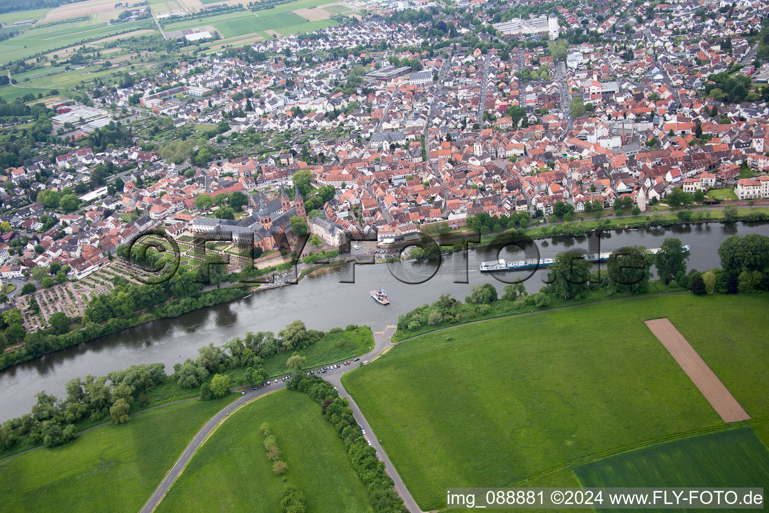
<path id="1" fill-rule="evenodd" d="M 188 401 L 0 461 L 4 511 L 135 513 L 195 433 L 235 395 Z"/>

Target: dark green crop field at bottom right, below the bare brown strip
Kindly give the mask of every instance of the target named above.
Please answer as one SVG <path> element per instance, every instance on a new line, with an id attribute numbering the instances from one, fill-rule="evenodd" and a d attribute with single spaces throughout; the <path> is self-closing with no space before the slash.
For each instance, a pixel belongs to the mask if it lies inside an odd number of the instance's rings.
<path id="1" fill-rule="evenodd" d="M 574 469 L 587 487 L 769 487 L 769 451 L 735 428 L 623 452 Z"/>

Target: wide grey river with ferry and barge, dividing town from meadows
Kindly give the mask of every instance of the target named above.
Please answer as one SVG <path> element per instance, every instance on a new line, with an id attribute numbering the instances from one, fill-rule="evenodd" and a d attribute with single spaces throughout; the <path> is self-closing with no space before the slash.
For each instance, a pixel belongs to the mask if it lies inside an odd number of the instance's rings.
<path id="1" fill-rule="evenodd" d="M 758 233 L 769 235 L 769 224 L 737 223 L 676 225 L 666 229 L 605 232 L 600 238 L 600 251 L 609 252 L 625 245 L 658 248 L 665 237 L 681 238 L 691 246 L 689 268 L 705 270 L 719 265 L 717 248 L 729 235 Z M 540 258 L 554 256 L 566 249 L 598 251 L 599 239 L 557 237 L 537 242 Z M 518 255 L 515 257 L 514 255 Z M 195 358 L 198 348 L 214 342 L 221 345 L 228 338 L 245 335 L 246 331 L 279 331 L 289 322 L 301 318 L 308 328 L 328 330 L 348 324 L 369 325 L 378 331 L 395 324 L 401 315 L 444 292 L 464 300 L 471 286 L 489 282 L 501 292 L 504 283 L 496 278 L 513 273 L 483 274 L 478 263 L 496 258 L 522 259 L 522 253 L 506 249 L 473 251 L 467 256 L 444 255 L 436 271 L 435 265 L 403 263 L 391 265 L 355 265 L 355 283 L 351 265 L 329 269 L 321 275 L 304 278 L 289 285 L 255 293 L 230 303 L 205 308 L 178 318 L 158 319 L 128 328 L 113 335 L 56 351 L 0 371 L 0 421 L 27 413 L 35 403 L 35 394 L 45 390 L 63 398 L 65 383 L 77 376 L 104 375 L 137 363 L 161 361 L 166 370 L 185 358 Z M 468 268 L 467 272 L 463 268 Z M 424 281 L 428 278 L 428 281 Z M 406 276 L 408 274 L 408 277 Z M 520 271 L 521 277 L 531 272 Z M 534 271 L 525 281 L 528 291 L 535 292 L 544 283 L 547 271 Z M 398 280 L 395 276 L 406 278 Z M 457 283 L 465 281 L 468 283 Z M 510 279 L 510 278 L 508 278 Z M 424 281 L 411 285 L 403 281 Z M 372 288 L 384 288 L 391 304 L 382 306 L 370 296 Z"/>

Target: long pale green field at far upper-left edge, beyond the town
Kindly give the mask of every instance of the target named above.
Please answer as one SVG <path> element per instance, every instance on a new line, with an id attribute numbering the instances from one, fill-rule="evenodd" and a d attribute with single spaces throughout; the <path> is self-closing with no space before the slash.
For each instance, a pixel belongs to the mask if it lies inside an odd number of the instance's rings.
<path id="1" fill-rule="evenodd" d="M 28 58 L 40 52 L 51 52 L 57 48 L 66 48 L 85 40 L 105 38 L 119 32 L 154 26 L 151 20 L 141 20 L 112 26 L 106 23 L 87 26 L 77 25 L 78 22 L 71 22 L 44 28 L 28 29 L 15 38 L 6 39 L 0 42 L 2 62 L 6 63 L 20 58 Z"/>

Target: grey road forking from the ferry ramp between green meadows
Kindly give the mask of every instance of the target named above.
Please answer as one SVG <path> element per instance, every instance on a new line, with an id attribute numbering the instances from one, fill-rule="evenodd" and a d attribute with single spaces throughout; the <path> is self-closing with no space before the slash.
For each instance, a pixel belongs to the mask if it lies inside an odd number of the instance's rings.
<path id="1" fill-rule="evenodd" d="M 371 351 L 365 355 L 361 355 L 360 361 L 371 361 L 382 351 L 384 351 L 385 348 L 388 348 L 390 345 L 390 339 L 392 338 L 394 332 L 395 326 L 388 326 L 384 331 L 375 333 L 374 347 L 371 348 Z M 408 511 L 411 511 L 411 513 L 421 513 L 421 510 L 419 509 L 416 501 L 414 501 L 414 498 L 411 497 L 411 494 L 408 492 L 406 485 L 404 485 L 401 476 L 398 475 L 397 471 L 395 471 L 395 468 L 393 467 L 390 459 L 384 453 L 384 449 L 381 448 L 378 439 L 374 436 L 373 431 L 371 430 L 371 426 L 368 425 L 368 421 L 366 421 L 365 417 L 361 413 L 360 408 L 358 408 L 358 405 L 355 404 L 355 401 L 349 397 L 347 391 L 345 391 L 345 388 L 341 386 L 341 375 L 343 375 L 345 371 L 356 368 L 359 365 L 361 364 L 342 366 L 340 368 L 332 369 L 331 371 L 325 372 L 323 378 L 337 387 L 339 395 L 349 399 L 350 408 L 355 415 L 355 420 L 357 420 L 359 424 L 365 426 L 365 429 L 368 430 L 368 433 L 371 434 L 369 437 L 371 440 L 371 445 L 378 451 L 381 460 L 384 461 L 387 473 L 395 483 L 395 490 L 398 491 L 398 495 L 401 495 L 401 498 L 403 498 L 404 504 L 408 507 Z M 155 490 L 155 493 L 153 493 L 149 498 L 144 508 L 141 508 L 141 513 L 151 513 L 151 511 L 155 510 L 155 508 L 158 506 L 158 503 L 165 495 L 165 492 L 168 491 L 168 488 L 171 488 L 171 485 L 174 484 L 174 481 L 176 481 L 176 478 L 178 478 L 178 476 L 181 474 L 181 471 L 184 470 L 192 456 L 195 455 L 195 451 L 198 450 L 205 438 L 211 434 L 211 431 L 214 430 L 219 422 L 223 421 L 228 415 L 230 415 L 233 411 L 242 405 L 245 405 L 245 403 L 248 401 L 258 398 L 261 395 L 265 395 L 273 390 L 280 390 L 281 388 L 285 388 L 285 382 L 278 381 L 277 383 L 274 383 L 268 387 L 260 387 L 258 390 L 248 390 L 246 391 L 245 395 L 241 396 L 236 401 L 231 402 L 216 415 L 214 415 L 211 420 L 206 422 L 205 426 L 203 426 L 203 428 L 198 431 L 198 434 L 195 435 L 195 438 L 192 438 L 189 445 L 187 445 L 187 448 L 185 448 L 185 451 L 181 453 L 181 456 L 179 456 L 175 465 L 171 468 L 171 471 L 168 471 L 168 474 L 165 476 L 163 481 L 161 481 L 160 485 Z"/>

